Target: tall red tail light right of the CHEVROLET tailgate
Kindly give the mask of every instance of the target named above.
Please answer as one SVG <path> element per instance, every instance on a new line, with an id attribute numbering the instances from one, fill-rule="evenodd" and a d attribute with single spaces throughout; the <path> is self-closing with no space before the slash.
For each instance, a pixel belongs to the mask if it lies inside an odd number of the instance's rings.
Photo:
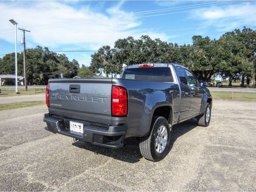
<path id="1" fill-rule="evenodd" d="M 127 90 L 125 88 L 112 86 L 111 106 L 112 116 L 127 116 L 128 102 Z"/>

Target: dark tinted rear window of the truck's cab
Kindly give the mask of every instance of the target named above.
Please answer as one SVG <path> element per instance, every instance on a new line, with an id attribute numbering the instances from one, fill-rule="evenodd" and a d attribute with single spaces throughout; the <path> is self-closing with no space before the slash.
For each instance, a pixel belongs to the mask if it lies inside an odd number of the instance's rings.
<path id="1" fill-rule="evenodd" d="M 173 76 L 168 67 L 128 68 L 124 71 L 122 79 L 173 82 Z"/>

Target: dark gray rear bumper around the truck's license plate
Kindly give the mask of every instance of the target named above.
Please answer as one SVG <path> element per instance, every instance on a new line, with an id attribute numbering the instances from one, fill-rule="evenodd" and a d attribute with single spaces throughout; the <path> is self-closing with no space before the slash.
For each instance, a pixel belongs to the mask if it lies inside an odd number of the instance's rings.
<path id="1" fill-rule="evenodd" d="M 80 122 L 84 125 L 84 133 L 78 133 L 69 129 L 69 121 Z M 124 146 L 124 138 L 126 135 L 127 126 L 104 126 L 93 124 L 90 122 L 83 122 L 79 120 L 66 119 L 58 116 L 50 116 L 48 113 L 44 114 L 44 122 L 47 126 L 46 130 L 70 136 L 78 140 L 91 142 L 95 145 L 119 148 Z"/>

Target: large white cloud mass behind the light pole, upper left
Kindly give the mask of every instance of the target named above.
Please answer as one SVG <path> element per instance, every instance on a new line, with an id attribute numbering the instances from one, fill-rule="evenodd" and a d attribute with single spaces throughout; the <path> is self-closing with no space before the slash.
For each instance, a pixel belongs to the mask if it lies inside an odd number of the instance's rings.
<path id="1" fill-rule="evenodd" d="M 110 15 L 127 14 L 121 10 L 123 2 L 107 10 Z M 79 48 L 98 49 L 102 45 L 114 44 L 118 38 L 141 36 L 135 30 L 141 22 L 132 16 L 106 16 L 94 12 L 89 6 L 72 7 L 61 2 L 0 2 L 0 38 L 13 42 L 13 26 L 8 21 L 13 18 L 18 26 L 31 30 L 26 34 L 29 42 L 40 46 L 62 47 L 73 45 Z M 136 32 L 137 31 L 137 32 Z M 150 33 L 152 38 L 167 40 L 164 33 Z"/>

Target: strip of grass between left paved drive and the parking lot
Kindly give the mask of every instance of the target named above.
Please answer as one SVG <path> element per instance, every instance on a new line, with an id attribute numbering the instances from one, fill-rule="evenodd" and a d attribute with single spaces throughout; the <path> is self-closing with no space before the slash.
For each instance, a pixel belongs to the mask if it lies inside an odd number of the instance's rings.
<path id="1" fill-rule="evenodd" d="M 45 101 L 24 101 L 24 102 L 17 102 L 17 103 L 5 103 L 5 104 L 0 104 L 0 111 L 17 109 L 22 107 L 32 107 L 32 106 L 44 105 L 44 104 L 45 104 Z"/>

